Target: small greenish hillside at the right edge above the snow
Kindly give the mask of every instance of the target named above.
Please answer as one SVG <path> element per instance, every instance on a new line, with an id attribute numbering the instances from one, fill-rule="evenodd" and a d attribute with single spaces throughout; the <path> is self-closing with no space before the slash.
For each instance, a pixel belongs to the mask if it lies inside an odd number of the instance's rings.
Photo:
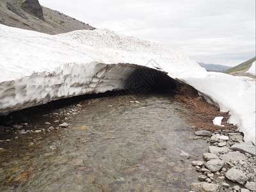
<path id="1" fill-rule="evenodd" d="M 245 73 L 251 66 L 253 61 L 255 61 L 255 57 L 244 61 L 243 63 L 237 65 L 236 67 L 229 68 L 228 70 L 223 71 L 225 74 L 230 74 L 233 76 L 250 76 L 252 75 Z"/>

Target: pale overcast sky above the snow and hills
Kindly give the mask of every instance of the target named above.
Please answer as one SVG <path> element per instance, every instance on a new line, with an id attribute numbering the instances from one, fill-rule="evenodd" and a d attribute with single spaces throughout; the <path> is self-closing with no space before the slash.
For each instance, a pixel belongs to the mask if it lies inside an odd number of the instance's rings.
<path id="1" fill-rule="evenodd" d="M 255 56 L 255 0 L 39 0 L 95 28 L 159 42 L 204 63 Z"/>

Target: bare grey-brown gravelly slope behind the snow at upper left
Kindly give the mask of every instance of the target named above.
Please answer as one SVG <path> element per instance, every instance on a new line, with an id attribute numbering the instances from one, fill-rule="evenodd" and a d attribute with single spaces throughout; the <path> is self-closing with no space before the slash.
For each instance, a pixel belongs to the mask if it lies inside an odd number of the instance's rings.
<path id="1" fill-rule="evenodd" d="M 35 15 L 21 8 L 22 1 L 0 1 L 0 24 L 6 26 L 48 33 L 51 35 L 67 33 L 79 29 L 95 29 L 68 15 L 42 6 L 44 17 L 38 19 Z M 40 4 L 39 4 L 40 5 Z"/>

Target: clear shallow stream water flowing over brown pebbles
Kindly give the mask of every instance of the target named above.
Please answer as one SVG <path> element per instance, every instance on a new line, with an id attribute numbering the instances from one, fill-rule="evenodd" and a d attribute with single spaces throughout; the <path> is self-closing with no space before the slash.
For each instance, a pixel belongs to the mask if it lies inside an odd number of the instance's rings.
<path id="1" fill-rule="evenodd" d="M 67 129 L 0 143 L 2 191 L 189 191 L 191 161 L 207 150 L 193 140 L 172 95 L 111 97 L 82 104 Z M 191 154 L 182 160 L 180 150 Z"/>

